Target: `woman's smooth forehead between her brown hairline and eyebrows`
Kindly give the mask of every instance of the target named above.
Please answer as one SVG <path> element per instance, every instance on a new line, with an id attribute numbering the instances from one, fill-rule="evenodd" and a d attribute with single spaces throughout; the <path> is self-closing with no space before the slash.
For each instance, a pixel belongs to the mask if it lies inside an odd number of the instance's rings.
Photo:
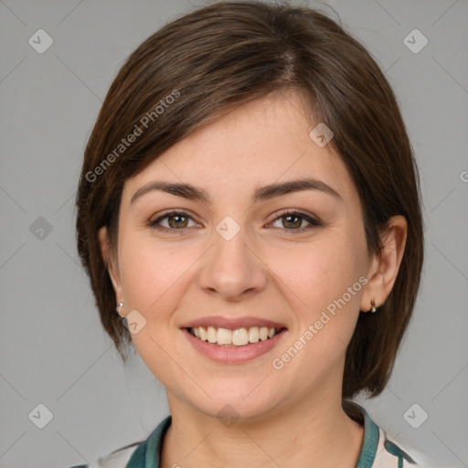
<path id="1" fill-rule="evenodd" d="M 127 201 L 154 180 L 190 183 L 212 197 L 233 197 L 256 187 L 303 177 L 356 197 L 346 166 L 331 144 L 315 143 L 319 122 L 306 117 L 301 96 L 267 96 L 243 104 L 171 146 L 125 182 Z"/>

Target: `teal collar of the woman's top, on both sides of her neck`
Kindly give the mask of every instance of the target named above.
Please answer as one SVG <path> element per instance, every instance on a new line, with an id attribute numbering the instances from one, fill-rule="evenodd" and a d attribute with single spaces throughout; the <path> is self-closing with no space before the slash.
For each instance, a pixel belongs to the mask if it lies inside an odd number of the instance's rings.
<path id="1" fill-rule="evenodd" d="M 377 453 L 378 426 L 370 419 L 367 411 L 362 406 L 355 402 L 352 402 L 352 405 L 361 413 L 364 419 L 364 442 L 356 468 L 371 468 Z M 159 460 L 165 432 L 169 429 L 171 422 L 171 416 L 167 416 L 162 420 L 146 441 L 138 445 L 125 468 L 160 468 Z"/>

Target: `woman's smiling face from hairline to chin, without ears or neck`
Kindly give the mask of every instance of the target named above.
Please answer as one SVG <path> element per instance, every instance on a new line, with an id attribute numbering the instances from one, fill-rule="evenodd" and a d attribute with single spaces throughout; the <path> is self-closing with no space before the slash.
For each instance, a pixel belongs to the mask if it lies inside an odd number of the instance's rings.
<path id="1" fill-rule="evenodd" d="M 170 404 L 255 418 L 341 392 L 372 262 L 356 187 L 304 115 L 296 94 L 252 101 L 125 181 L 112 282 Z"/>

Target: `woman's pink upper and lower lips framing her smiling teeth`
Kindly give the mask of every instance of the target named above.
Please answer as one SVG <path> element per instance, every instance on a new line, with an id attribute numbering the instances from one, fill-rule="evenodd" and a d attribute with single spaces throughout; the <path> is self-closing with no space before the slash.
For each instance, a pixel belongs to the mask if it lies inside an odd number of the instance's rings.
<path id="1" fill-rule="evenodd" d="M 282 328 L 282 331 L 265 341 L 259 340 L 257 343 L 250 343 L 249 345 L 219 346 L 208 343 L 207 341 L 202 341 L 188 331 L 188 328 L 196 326 L 215 326 L 216 328 L 228 328 L 229 330 L 248 328 L 250 326 L 268 326 L 269 328 Z M 286 335 L 287 328 L 278 322 L 271 322 L 270 320 L 264 320 L 259 317 L 236 319 L 203 317 L 184 324 L 184 326 L 181 327 L 181 331 L 186 336 L 188 342 L 194 346 L 199 353 L 206 356 L 211 361 L 222 364 L 242 364 L 271 351 L 274 346 L 280 343 L 282 337 Z"/>

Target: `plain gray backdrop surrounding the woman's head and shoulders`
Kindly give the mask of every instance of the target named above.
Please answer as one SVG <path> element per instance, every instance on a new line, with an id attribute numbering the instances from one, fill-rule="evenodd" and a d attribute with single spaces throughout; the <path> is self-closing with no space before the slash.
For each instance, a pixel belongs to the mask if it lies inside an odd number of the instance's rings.
<path id="1" fill-rule="evenodd" d="M 123 367 L 101 329 L 75 248 L 73 198 L 84 145 L 123 61 L 168 20 L 203 3 L 0 1 L 2 468 L 93 463 L 143 440 L 168 414 L 164 388 L 139 356 Z M 432 463 L 468 466 L 468 3 L 328 5 L 398 94 L 426 222 L 414 319 L 388 388 L 363 404 L 390 436 Z M 54 41 L 43 54 L 28 43 L 39 28 Z M 414 28 L 429 40 L 419 53 L 403 42 Z M 44 429 L 28 417 L 39 403 L 53 413 Z M 404 417 L 414 403 L 429 415 L 418 429 Z M 410 411 L 413 424 L 420 409 Z"/>

